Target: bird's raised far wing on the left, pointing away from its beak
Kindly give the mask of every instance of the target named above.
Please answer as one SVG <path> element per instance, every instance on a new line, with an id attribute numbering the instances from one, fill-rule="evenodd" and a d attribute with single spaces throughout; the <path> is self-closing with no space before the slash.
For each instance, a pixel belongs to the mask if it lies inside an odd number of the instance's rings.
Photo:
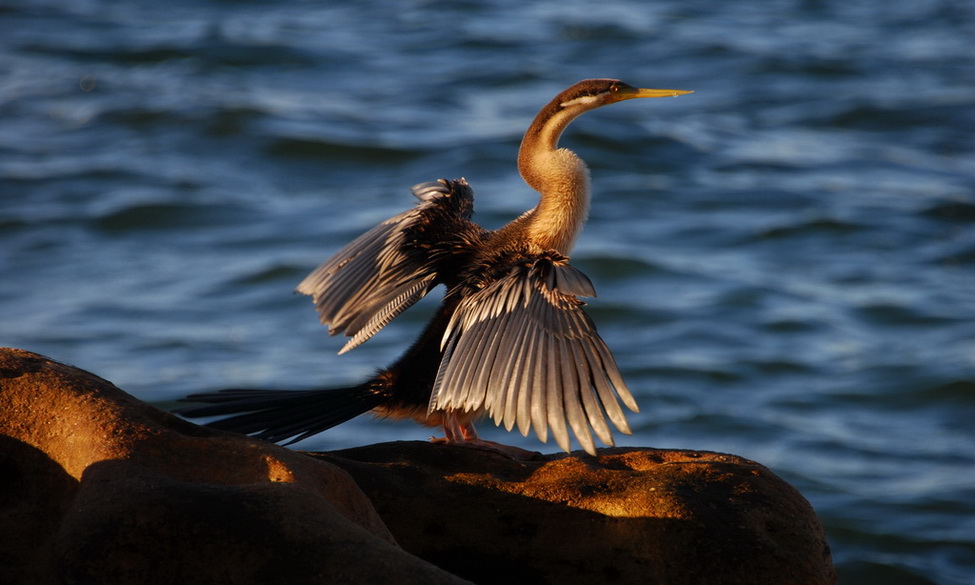
<path id="1" fill-rule="evenodd" d="M 480 233 L 468 218 L 473 192 L 463 179 L 413 187 L 420 203 L 362 234 L 309 274 L 296 289 L 310 295 L 329 334 L 364 343 L 423 298 Z"/>

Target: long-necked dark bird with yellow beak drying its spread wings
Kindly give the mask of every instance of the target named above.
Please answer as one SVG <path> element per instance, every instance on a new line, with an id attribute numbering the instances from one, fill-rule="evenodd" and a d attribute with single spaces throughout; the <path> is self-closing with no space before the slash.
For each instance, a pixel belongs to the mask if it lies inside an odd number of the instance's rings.
<path id="1" fill-rule="evenodd" d="M 609 423 L 631 430 L 621 407 L 639 412 L 633 394 L 583 298 L 589 278 L 569 263 L 587 219 L 589 169 L 560 147 L 566 127 L 585 112 L 636 98 L 692 93 L 642 89 L 617 79 L 586 79 L 548 102 L 528 127 L 518 170 L 538 204 L 497 230 L 471 221 L 466 179 L 413 187 L 416 204 L 369 229 L 311 272 L 296 292 L 311 296 L 329 334 L 349 351 L 435 287 L 443 299 L 399 359 L 358 385 L 310 390 L 227 389 L 193 394 L 204 406 L 187 417 L 231 415 L 208 426 L 293 443 L 372 411 L 443 427 L 449 444 L 499 448 L 478 437 L 475 421 L 551 436 L 570 451 L 569 431 L 596 454 L 593 435 L 614 445 Z"/>

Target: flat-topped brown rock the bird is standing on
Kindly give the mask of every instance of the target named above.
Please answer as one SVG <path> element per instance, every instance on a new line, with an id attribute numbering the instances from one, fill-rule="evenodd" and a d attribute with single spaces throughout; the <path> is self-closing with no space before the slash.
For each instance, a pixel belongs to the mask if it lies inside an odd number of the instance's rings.
<path id="1" fill-rule="evenodd" d="M 314 456 L 356 479 L 404 549 L 482 585 L 836 582 L 805 498 L 734 455 L 616 448 L 518 462 L 414 442 Z"/>

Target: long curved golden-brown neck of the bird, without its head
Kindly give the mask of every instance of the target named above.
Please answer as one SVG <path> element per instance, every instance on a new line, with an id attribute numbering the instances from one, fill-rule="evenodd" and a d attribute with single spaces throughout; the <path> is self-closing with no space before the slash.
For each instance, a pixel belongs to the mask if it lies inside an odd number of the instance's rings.
<path id="1" fill-rule="evenodd" d="M 568 255 L 589 215 L 589 169 L 574 152 L 559 148 L 559 137 L 582 111 L 550 103 L 535 118 L 521 142 L 518 171 L 541 194 L 522 216 L 525 236 L 541 250 Z"/>

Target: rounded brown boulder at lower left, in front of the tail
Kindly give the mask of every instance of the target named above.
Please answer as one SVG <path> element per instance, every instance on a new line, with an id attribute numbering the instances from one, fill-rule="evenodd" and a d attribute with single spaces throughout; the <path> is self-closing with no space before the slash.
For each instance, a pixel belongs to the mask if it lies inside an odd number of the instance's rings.
<path id="1" fill-rule="evenodd" d="M 0 583 L 466 583 L 341 469 L 0 349 Z"/>

